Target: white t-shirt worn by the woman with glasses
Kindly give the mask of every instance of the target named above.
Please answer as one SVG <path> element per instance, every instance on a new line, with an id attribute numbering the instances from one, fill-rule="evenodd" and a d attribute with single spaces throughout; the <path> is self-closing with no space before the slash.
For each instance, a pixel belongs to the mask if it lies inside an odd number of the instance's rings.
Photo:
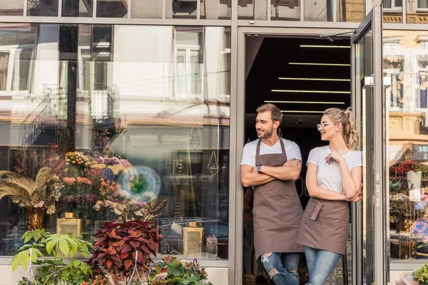
<path id="1" fill-rule="evenodd" d="M 306 166 L 309 163 L 313 163 L 318 166 L 317 181 L 318 186 L 332 190 L 335 192 L 342 193 L 342 175 L 340 173 L 339 162 L 334 160 L 330 161 L 330 165 L 327 164 L 325 157 L 332 152 L 330 146 L 325 145 L 324 147 L 315 147 L 309 152 Z M 362 166 L 362 152 L 356 150 L 350 150 L 349 152 L 342 155 L 345 158 L 346 164 L 350 171 L 354 167 Z"/>

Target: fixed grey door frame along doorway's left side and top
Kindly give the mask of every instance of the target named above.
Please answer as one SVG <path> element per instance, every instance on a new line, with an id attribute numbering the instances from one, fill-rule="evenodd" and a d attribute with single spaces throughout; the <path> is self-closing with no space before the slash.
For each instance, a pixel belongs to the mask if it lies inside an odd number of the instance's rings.
<path id="1" fill-rule="evenodd" d="M 240 226 L 243 224 L 243 185 L 240 181 L 240 158 L 242 157 L 243 147 L 245 144 L 245 59 L 246 59 L 246 50 L 245 50 L 245 38 L 248 35 L 258 35 L 258 36 L 272 36 L 272 37 L 290 37 L 290 38 L 300 38 L 300 37 L 317 37 L 322 33 L 343 33 L 347 31 L 352 31 L 352 28 L 276 28 L 276 27 L 251 27 L 251 26 L 241 26 L 238 27 L 238 66 L 237 66 L 237 96 L 234 98 L 236 103 L 236 128 L 235 132 L 230 134 L 231 141 L 235 142 L 235 157 L 236 157 L 236 178 L 235 178 L 235 204 L 230 205 L 235 208 L 235 212 L 231 213 L 233 215 L 233 220 L 236 227 L 234 227 L 233 232 L 233 243 L 235 247 L 230 247 L 229 257 L 233 256 L 233 259 L 230 259 L 230 268 L 229 268 L 229 284 L 241 285 L 243 284 L 243 227 Z M 343 36 L 344 38 L 350 38 L 350 36 Z M 327 41 L 327 39 L 325 39 Z M 352 68 L 352 65 L 351 65 Z M 231 100 L 232 101 L 232 100 Z M 351 99 L 351 104 L 353 101 Z M 354 105 L 352 105 L 353 107 Z M 231 146 L 232 147 L 232 146 Z M 231 201 L 232 202 L 232 201 Z M 354 206 L 352 206 L 354 207 Z M 352 217 L 352 224 L 355 224 L 357 217 Z M 355 234 L 354 234 L 355 235 Z M 230 235 L 230 238 L 232 235 Z M 356 259 L 352 259 L 356 260 Z M 233 272 L 233 274 L 231 274 Z M 352 279 L 355 279 L 352 274 Z"/>

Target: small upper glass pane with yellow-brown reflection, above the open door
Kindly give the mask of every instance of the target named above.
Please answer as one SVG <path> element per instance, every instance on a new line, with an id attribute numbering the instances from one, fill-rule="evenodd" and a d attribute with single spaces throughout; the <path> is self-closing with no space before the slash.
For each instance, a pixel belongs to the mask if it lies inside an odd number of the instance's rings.
<path id="1" fill-rule="evenodd" d="M 337 0 L 337 21 L 360 23 L 365 18 L 365 0 Z"/>

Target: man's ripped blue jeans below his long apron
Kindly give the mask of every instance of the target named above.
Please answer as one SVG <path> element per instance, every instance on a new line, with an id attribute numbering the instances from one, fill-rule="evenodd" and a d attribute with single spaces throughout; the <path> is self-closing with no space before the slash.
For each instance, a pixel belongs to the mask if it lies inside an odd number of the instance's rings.
<path id="1" fill-rule="evenodd" d="M 299 285 L 299 253 L 267 253 L 261 256 L 263 266 L 276 285 Z"/>

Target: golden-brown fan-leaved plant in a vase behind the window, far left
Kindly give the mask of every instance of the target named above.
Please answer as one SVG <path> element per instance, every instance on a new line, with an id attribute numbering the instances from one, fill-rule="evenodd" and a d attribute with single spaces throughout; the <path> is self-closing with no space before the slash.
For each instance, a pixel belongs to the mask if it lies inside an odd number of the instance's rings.
<path id="1" fill-rule="evenodd" d="M 55 202 L 61 197 L 63 185 L 49 167 L 42 167 L 33 180 L 17 172 L 0 171 L 0 199 L 10 196 L 11 201 L 26 208 L 26 230 L 41 229 L 43 216 L 56 212 Z"/>

